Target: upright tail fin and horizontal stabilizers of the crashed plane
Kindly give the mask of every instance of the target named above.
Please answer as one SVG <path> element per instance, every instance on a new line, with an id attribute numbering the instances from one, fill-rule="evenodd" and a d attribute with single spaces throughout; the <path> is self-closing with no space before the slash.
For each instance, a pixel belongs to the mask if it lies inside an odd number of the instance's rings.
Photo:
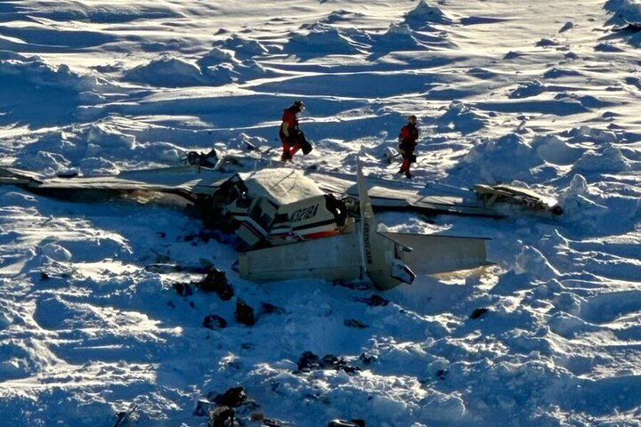
<path id="1" fill-rule="evenodd" d="M 360 168 L 357 188 L 359 213 L 358 221 L 350 224 L 352 230 L 331 238 L 239 254 L 240 275 L 257 281 L 281 279 L 283 273 L 290 278 L 349 280 L 365 273 L 377 288 L 385 290 L 411 284 L 417 275 L 468 270 L 489 263 L 485 238 L 379 231 Z M 349 209 L 348 204 L 345 207 Z"/>

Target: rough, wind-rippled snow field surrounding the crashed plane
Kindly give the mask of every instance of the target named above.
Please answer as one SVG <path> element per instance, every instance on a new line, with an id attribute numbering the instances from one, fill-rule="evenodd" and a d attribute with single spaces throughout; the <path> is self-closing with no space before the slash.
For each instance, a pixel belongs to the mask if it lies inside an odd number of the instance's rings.
<path id="1" fill-rule="evenodd" d="M 112 426 L 138 405 L 133 425 L 203 426 L 198 400 L 240 385 L 282 425 L 641 425 L 640 15 L 637 0 L 0 3 L 3 165 L 117 173 L 246 141 L 276 156 L 302 99 L 315 149 L 293 167 L 354 173 L 362 147 L 366 173 L 394 178 L 380 155 L 416 114 L 415 184 L 518 181 L 565 211 L 379 215 L 492 238 L 496 264 L 369 306 L 362 286 L 239 279 L 232 247 L 179 209 L 4 186 L 0 423 Z M 200 259 L 233 299 L 145 269 Z M 238 298 L 282 310 L 245 326 Z M 204 327 L 212 314 L 228 326 Z M 359 370 L 296 373 L 304 351 Z"/>

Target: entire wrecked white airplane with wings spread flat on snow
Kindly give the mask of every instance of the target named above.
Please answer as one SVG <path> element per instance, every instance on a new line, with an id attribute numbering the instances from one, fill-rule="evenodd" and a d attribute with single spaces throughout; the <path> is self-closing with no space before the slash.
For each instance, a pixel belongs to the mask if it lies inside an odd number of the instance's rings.
<path id="1" fill-rule="evenodd" d="M 377 288 L 390 289 L 410 284 L 417 275 L 489 263 L 486 238 L 380 231 L 374 215 L 394 209 L 500 216 L 483 203 L 424 195 L 395 181 L 366 180 L 360 167 L 355 180 L 286 167 L 238 172 L 242 168 L 237 157 L 223 157 L 211 168 L 181 165 L 114 176 L 45 179 L 0 168 L 0 183 L 53 197 L 177 198 L 198 207 L 206 226 L 236 233 L 245 249 L 239 253 L 239 275 L 254 281 L 367 275 Z"/>

